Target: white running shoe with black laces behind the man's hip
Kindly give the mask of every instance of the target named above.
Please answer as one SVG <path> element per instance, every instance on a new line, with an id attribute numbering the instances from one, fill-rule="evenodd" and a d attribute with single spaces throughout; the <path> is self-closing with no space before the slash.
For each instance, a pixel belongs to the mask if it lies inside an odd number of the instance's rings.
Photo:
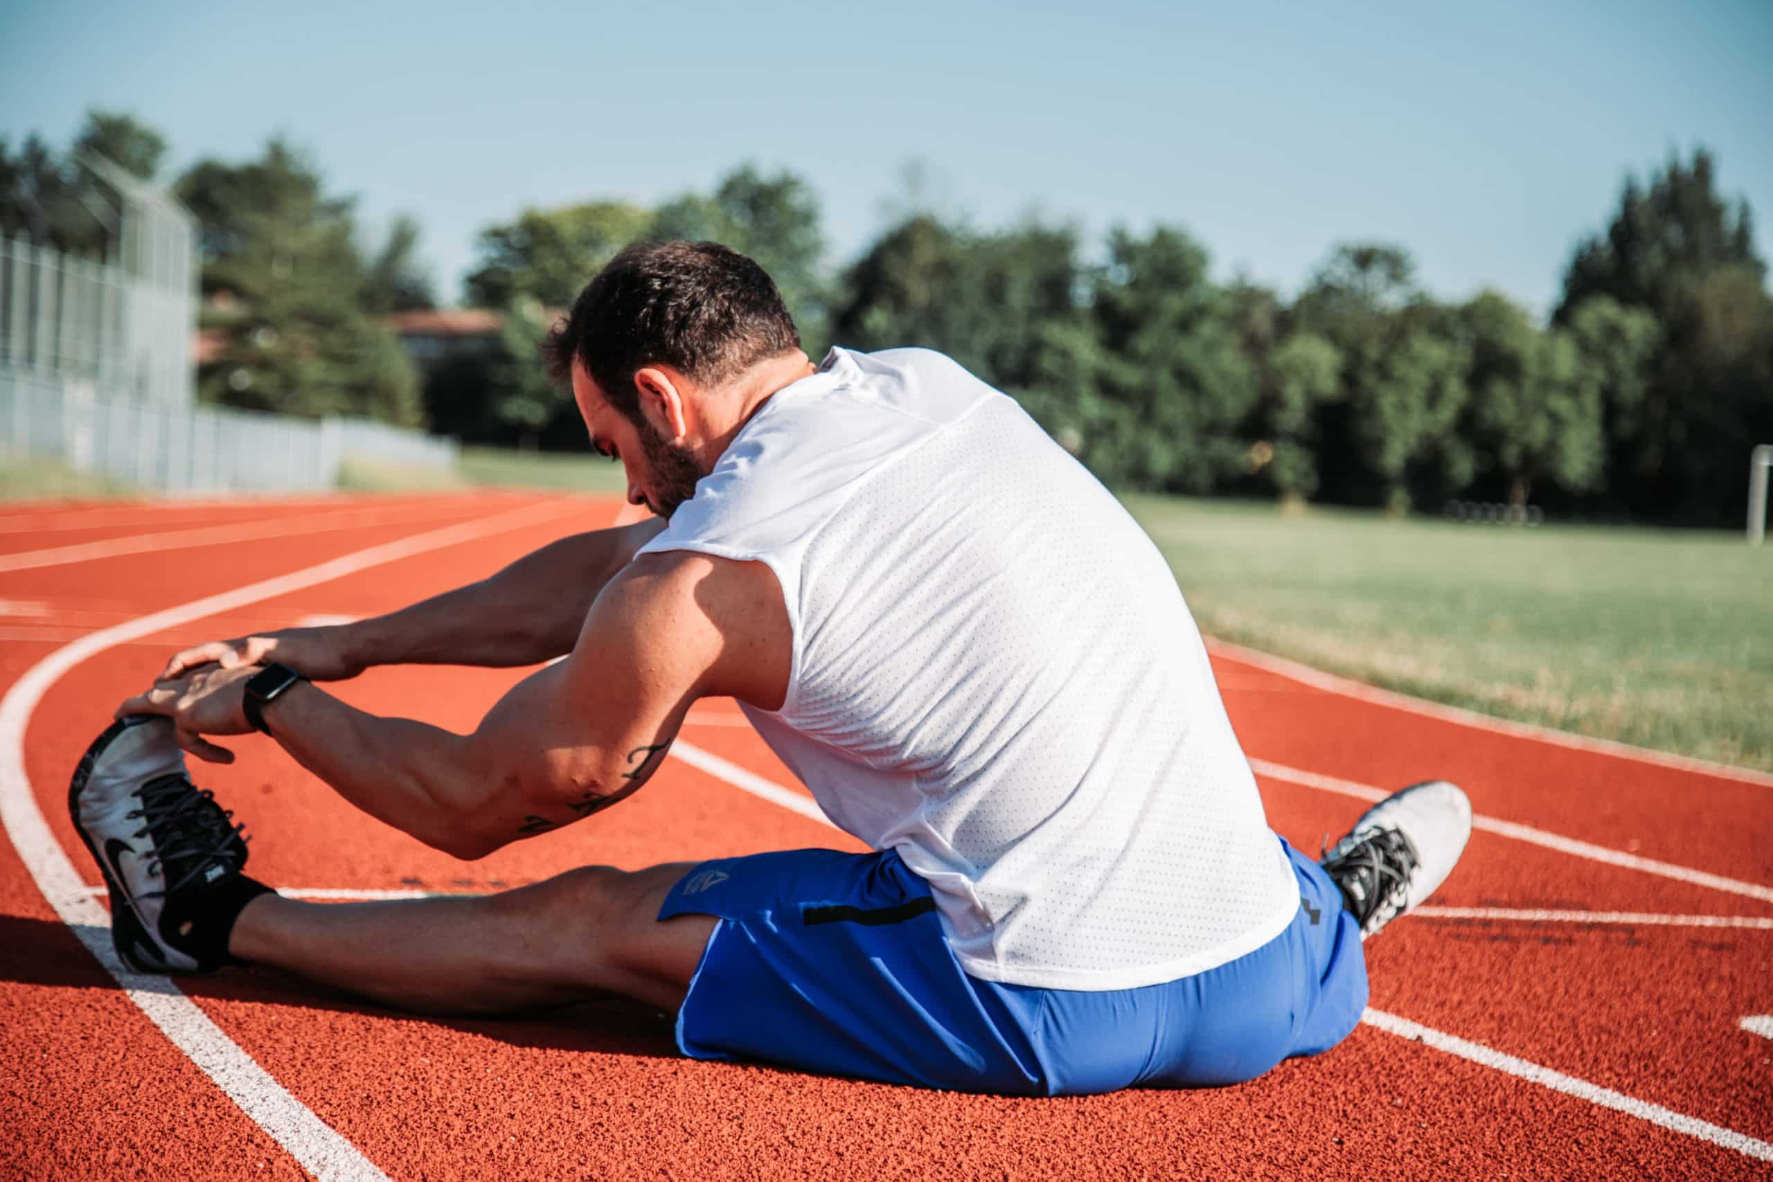
<path id="1" fill-rule="evenodd" d="M 1433 780 L 1369 808 L 1321 863 L 1367 939 L 1433 895 L 1470 836 L 1472 801 L 1456 785 Z"/>

